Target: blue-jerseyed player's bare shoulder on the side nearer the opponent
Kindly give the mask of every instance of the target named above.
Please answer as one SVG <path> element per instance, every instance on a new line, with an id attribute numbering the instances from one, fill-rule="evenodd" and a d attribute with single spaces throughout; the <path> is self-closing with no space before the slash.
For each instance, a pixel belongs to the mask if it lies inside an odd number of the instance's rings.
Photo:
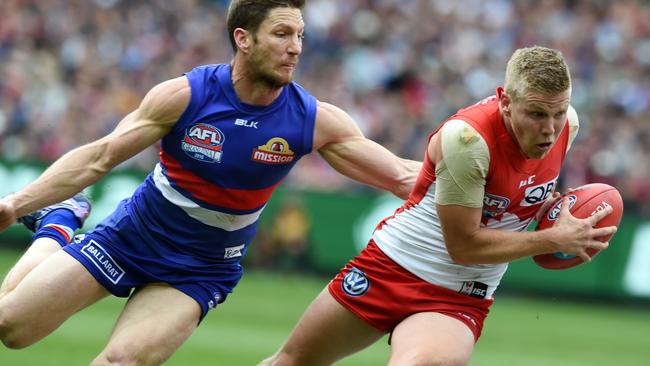
<path id="1" fill-rule="evenodd" d="M 341 108 L 322 101 L 316 105 L 314 149 L 349 139 L 363 138 L 359 126 Z"/>

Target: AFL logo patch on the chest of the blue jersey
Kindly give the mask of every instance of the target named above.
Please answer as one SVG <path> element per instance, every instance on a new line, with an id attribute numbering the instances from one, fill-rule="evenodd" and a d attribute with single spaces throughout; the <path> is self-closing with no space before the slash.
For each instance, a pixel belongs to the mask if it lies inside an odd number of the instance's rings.
<path id="1" fill-rule="evenodd" d="M 192 159 L 206 163 L 220 163 L 225 140 L 218 128 L 200 123 L 185 130 L 181 149 Z"/>

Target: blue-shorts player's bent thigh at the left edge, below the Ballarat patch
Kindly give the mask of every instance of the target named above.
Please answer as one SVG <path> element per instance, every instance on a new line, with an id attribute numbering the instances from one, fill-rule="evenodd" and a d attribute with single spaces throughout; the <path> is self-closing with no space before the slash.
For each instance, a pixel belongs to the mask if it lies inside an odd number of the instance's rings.
<path id="1" fill-rule="evenodd" d="M 109 292 L 76 259 L 60 250 L 0 298 L 3 337 L 31 344 Z"/>

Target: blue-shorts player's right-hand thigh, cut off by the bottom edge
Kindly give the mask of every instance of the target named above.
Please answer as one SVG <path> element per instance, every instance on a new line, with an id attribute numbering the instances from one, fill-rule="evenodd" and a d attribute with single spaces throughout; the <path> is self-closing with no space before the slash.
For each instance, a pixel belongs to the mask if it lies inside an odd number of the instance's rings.
<path id="1" fill-rule="evenodd" d="M 150 284 L 135 292 L 93 365 L 159 365 L 198 326 L 201 307 L 167 285 Z"/>

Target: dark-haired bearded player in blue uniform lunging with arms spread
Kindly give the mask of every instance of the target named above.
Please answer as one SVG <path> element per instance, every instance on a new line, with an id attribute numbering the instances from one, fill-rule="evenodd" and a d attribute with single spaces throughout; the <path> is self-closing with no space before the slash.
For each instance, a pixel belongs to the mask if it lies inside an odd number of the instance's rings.
<path id="1" fill-rule="evenodd" d="M 292 81 L 303 6 L 233 1 L 230 64 L 153 87 L 110 134 L 0 201 L 0 229 L 21 218 L 36 231 L 0 290 L 7 347 L 39 341 L 112 294 L 129 301 L 93 364 L 164 362 L 237 284 L 273 189 L 314 150 L 352 179 L 407 196 L 421 163 L 366 139 L 348 114 Z M 68 243 L 89 210 L 75 195 L 159 140 L 161 160 L 133 196 Z"/>

